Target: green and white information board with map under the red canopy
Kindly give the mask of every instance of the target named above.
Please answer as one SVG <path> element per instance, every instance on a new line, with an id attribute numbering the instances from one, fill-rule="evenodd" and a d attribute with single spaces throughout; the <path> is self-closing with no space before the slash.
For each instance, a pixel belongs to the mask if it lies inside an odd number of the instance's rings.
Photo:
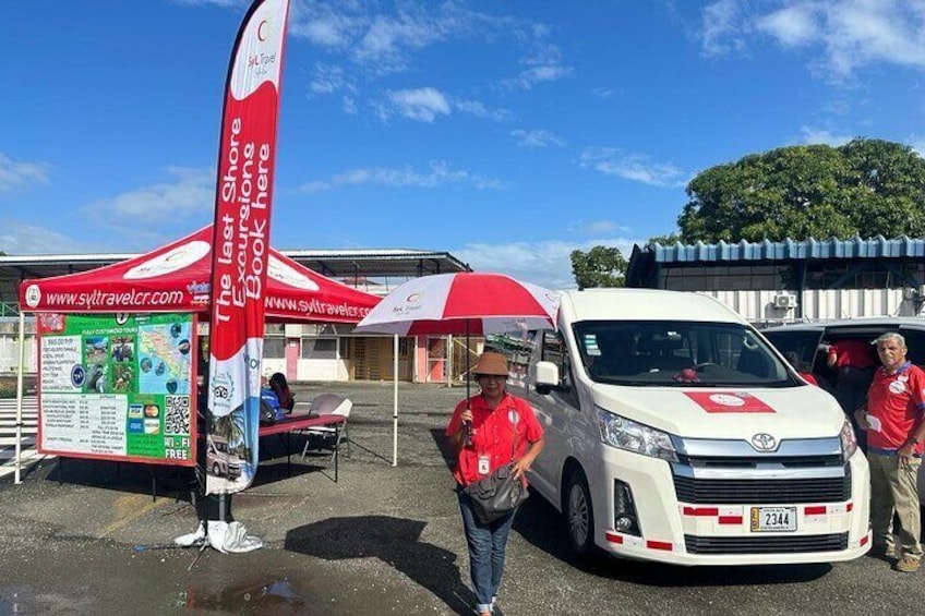
<path id="1" fill-rule="evenodd" d="M 193 314 L 38 314 L 38 450 L 195 464 Z"/>

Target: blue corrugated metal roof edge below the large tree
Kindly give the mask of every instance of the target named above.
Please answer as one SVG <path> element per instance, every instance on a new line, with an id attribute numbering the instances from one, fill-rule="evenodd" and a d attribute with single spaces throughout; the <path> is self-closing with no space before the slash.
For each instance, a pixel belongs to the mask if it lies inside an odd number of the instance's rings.
<path id="1" fill-rule="evenodd" d="M 780 242 L 746 242 L 729 244 L 720 241 L 716 244 L 697 242 L 696 244 L 647 245 L 644 251 L 654 256 L 656 263 L 692 263 L 717 261 L 790 261 L 798 258 L 910 258 L 925 257 L 925 239 L 894 238 L 882 235 L 863 240 L 808 239 L 802 241 L 783 240 Z"/>

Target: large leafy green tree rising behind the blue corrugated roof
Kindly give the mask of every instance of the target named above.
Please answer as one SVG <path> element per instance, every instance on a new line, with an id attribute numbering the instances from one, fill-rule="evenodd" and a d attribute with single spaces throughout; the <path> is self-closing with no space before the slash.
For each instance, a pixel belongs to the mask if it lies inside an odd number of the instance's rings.
<path id="1" fill-rule="evenodd" d="M 925 159 L 881 140 L 749 155 L 697 174 L 687 197 L 687 243 L 925 235 Z"/>

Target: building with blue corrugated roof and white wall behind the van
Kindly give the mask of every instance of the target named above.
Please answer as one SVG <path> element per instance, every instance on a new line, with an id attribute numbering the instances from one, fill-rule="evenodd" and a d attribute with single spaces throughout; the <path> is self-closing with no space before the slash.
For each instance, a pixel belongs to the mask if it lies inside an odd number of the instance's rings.
<path id="1" fill-rule="evenodd" d="M 636 245 L 626 285 L 706 292 L 757 323 L 920 314 L 925 239 Z"/>

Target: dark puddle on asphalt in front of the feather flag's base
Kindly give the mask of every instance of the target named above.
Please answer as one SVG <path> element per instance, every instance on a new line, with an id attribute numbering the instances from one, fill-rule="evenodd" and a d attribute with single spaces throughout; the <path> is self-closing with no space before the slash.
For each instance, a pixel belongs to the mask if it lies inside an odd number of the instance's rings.
<path id="1" fill-rule="evenodd" d="M 177 599 L 177 606 L 184 609 L 218 609 L 232 614 L 297 614 L 302 613 L 305 604 L 305 599 L 287 579 L 236 584 L 211 593 L 191 588 Z"/>

